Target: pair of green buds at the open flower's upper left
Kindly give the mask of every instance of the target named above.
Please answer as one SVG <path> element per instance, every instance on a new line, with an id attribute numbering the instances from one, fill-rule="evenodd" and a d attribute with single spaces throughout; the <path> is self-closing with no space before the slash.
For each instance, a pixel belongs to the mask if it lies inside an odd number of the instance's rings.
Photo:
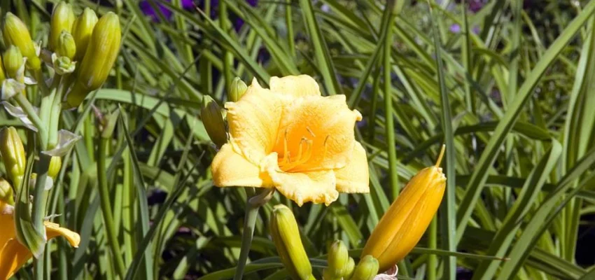
<path id="1" fill-rule="evenodd" d="M 234 78 L 228 92 L 228 102 L 237 102 L 246 93 L 246 90 L 248 90 L 246 83 L 239 77 Z M 221 109 L 221 106 L 214 99 L 208 95 L 204 95 L 200 115 L 202 116 L 202 123 L 204 129 L 207 130 L 207 134 L 209 134 L 209 138 L 211 138 L 211 141 L 213 141 L 217 148 L 221 148 L 223 144 L 228 142 L 225 110 Z"/>

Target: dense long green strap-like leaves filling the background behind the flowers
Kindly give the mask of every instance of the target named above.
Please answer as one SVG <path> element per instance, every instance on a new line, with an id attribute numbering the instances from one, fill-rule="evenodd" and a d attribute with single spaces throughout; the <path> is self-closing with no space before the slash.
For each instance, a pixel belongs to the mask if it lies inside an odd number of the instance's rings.
<path id="1" fill-rule="evenodd" d="M 595 214 L 595 1 L 524 8 L 524 1 L 494 0 L 477 13 L 447 0 L 397 1 L 393 9 L 372 0 L 259 1 L 255 8 L 219 0 L 205 1 L 213 6 L 204 10 L 149 1 L 174 12 L 158 21 L 138 1 L 104 2 L 71 1 L 78 11 L 118 13 L 123 46 L 104 88 L 64 112 L 62 127 L 83 140 L 64 160 L 47 213 L 59 214 L 52 221 L 82 241 L 78 248 L 50 242 L 48 279 L 117 277 L 97 197 L 91 104 L 125 112 L 103 176 L 127 278 L 230 278 L 253 190 L 212 186 L 216 151 L 201 123 L 202 97 L 223 104 L 235 76 L 267 85 L 270 76 L 298 73 L 314 76 L 323 94 L 346 94 L 363 113 L 356 137 L 368 152 L 370 194 L 301 208 L 275 195 L 260 211 L 246 279 L 287 276 L 268 236 L 272 205 L 293 207 L 320 277 L 325 245 L 342 239 L 358 257 L 399 190 L 433 165 L 443 143 L 447 193 L 399 264 L 399 279 L 454 279 L 457 267 L 474 272 L 472 279 L 595 279 L 594 261 L 575 260 L 584 246 L 578 230 L 592 230 Z M 0 7 L 47 41 L 52 3 Z M 237 18 L 245 22 L 239 31 L 231 28 Z M 454 24 L 459 32 L 449 30 Z M 20 123 L 2 111 L 4 125 Z M 30 273 L 31 265 L 17 277 Z"/>

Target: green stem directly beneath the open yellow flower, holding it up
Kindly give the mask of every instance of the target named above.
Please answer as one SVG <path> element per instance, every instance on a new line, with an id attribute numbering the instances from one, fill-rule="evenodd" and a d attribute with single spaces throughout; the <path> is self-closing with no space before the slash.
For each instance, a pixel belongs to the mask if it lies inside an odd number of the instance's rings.
<path id="1" fill-rule="evenodd" d="M 239 250 L 239 260 L 237 262 L 237 268 L 235 269 L 234 280 L 241 280 L 241 276 L 244 275 L 244 268 L 246 267 L 246 260 L 248 260 L 248 253 L 250 252 L 252 237 L 254 235 L 254 226 L 256 225 L 256 218 L 258 217 L 258 209 L 271 199 L 274 191 L 274 188 L 262 190 L 262 192 L 251 197 L 248 200 L 248 203 L 246 203 L 244 233 L 241 236 L 241 248 Z"/>

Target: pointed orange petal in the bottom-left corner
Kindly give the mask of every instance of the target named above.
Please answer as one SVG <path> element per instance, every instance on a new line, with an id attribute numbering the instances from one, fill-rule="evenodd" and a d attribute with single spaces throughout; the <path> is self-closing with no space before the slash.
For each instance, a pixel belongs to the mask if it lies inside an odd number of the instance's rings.
<path id="1" fill-rule="evenodd" d="M 16 238 L 8 240 L 0 250 L 0 279 L 9 279 L 33 256 Z"/>

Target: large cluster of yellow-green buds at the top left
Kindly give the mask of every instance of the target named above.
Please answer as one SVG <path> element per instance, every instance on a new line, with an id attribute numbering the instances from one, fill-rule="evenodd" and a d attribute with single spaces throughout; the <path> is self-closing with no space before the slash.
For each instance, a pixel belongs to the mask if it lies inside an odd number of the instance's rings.
<path id="1" fill-rule="evenodd" d="M 118 15 L 110 12 L 98 19 L 93 10 L 85 8 L 76 18 L 71 5 L 64 1 L 52 11 L 47 49 L 41 50 L 41 44 L 31 40 L 25 24 L 12 13 L 6 13 L 2 33 L 8 49 L 2 59 L 0 81 L 12 79 L 3 83 L 3 100 L 24 91 L 26 69 L 35 78 L 31 81 L 42 83 L 42 90 L 47 87 L 41 75 L 41 62 L 45 62 L 56 74 L 54 81 L 72 74 L 64 78 L 60 97 L 66 109 L 76 107 L 106 81 L 120 50 Z"/>

